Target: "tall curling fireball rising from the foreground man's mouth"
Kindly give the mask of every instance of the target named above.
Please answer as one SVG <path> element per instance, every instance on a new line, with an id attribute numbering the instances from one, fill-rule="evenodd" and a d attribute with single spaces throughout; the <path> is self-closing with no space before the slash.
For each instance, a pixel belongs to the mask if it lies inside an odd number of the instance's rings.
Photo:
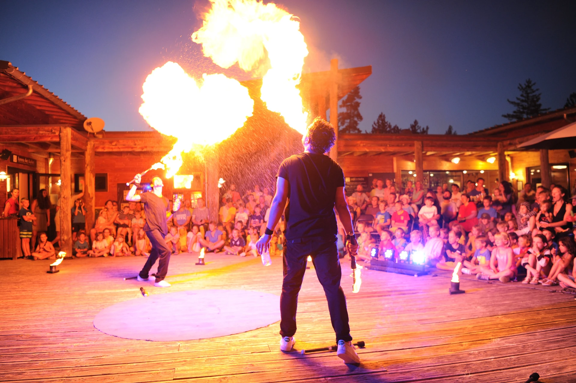
<path id="1" fill-rule="evenodd" d="M 274 3 L 256 0 L 210 0 L 202 28 L 192 41 L 202 44 L 204 56 L 222 68 L 238 63 L 244 71 L 264 72 L 261 98 L 290 127 L 306 131 L 308 113 L 302 108 L 300 83 L 308 48 L 300 22 Z"/>

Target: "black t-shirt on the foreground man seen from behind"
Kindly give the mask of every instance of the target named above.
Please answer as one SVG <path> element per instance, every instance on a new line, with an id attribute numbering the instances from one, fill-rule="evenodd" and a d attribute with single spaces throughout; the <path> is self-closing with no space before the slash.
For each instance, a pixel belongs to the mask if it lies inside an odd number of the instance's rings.
<path id="1" fill-rule="evenodd" d="M 324 154 L 300 153 L 283 160 L 276 177 L 289 182 L 286 239 L 336 236 L 336 188 L 344 172 Z"/>

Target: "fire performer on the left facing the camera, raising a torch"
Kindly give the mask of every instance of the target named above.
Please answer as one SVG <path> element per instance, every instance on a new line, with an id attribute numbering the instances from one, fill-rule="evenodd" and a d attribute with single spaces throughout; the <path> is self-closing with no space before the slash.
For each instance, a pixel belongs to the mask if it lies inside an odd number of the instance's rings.
<path id="1" fill-rule="evenodd" d="M 146 215 L 146 223 L 144 224 L 144 231 L 146 236 L 150 239 L 152 250 L 150 256 L 144 264 L 144 267 L 138 274 L 138 281 L 154 281 L 156 287 L 170 287 L 170 284 L 164 281 L 168 273 L 168 262 L 170 262 L 170 248 L 166 244 L 164 238 L 168 234 L 168 225 L 166 224 L 166 212 L 170 209 L 168 198 L 162 196 L 162 179 L 158 177 L 152 178 L 152 191 L 146 191 L 142 194 L 136 194 L 137 185 L 140 184 L 142 176 L 137 174 L 135 183 L 132 185 L 126 201 L 144 202 L 144 213 Z M 150 269 L 158 261 L 158 271 L 156 278 L 149 275 Z"/>

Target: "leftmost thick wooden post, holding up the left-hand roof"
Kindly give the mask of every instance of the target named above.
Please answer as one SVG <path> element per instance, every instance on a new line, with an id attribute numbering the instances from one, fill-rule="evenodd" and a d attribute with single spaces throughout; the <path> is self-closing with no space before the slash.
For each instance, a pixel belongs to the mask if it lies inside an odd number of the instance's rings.
<path id="1" fill-rule="evenodd" d="M 70 127 L 60 127 L 60 251 L 72 256 L 72 132 Z"/>

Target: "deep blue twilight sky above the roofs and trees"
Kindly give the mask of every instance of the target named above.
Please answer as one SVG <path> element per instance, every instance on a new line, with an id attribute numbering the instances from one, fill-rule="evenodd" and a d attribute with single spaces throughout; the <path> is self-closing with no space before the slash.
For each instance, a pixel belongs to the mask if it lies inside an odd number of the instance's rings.
<path id="1" fill-rule="evenodd" d="M 576 91 L 574 1 L 284 0 L 301 20 L 305 72 L 372 65 L 361 84 L 361 129 L 384 112 L 400 128 L 468 133 L 506 122 L 519 82 L 544 107 Z M 138 114 L 147 74 L 168 60 L 218 71 L 190 35 L 206 0 L 12 1 L 0 13 L 8 60 L 106 130 L 150 129 Z M 240 74 L 240 71 L 222 71 Z M 238 77 L 245 79 L 246 77 Z"/>

